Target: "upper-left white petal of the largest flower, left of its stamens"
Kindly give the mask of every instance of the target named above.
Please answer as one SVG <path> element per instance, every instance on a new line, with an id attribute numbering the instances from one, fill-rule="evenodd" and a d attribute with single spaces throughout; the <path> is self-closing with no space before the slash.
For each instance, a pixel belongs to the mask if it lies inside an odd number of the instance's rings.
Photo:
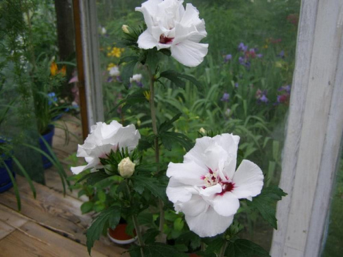
<path id="1" fill-rule="evenodd" d="M 174 178 L 178 182 L 191 186 L 204 186 L 202 175 L 208 171 L 196 162 L 173 163 L 170 162 L 167 169 L 167 176 Z"/>

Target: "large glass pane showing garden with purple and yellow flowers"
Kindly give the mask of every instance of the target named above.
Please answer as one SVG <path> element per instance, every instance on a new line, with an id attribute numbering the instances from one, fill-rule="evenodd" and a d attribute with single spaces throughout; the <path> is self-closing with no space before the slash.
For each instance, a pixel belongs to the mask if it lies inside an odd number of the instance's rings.
<path id="1" fill-rule="evenodd" d="M 139 88 L 149 90 L 148 73 L 137 65 L 129 85 L 123 84 L 120 58 L 130 49 L 120 45 L 122 25 L 143 26 L 143 15 L 134 12 L 143 1 L 99 0 L 99 41 L 106 121 L 134 123 L 141 134 L 151 126 L 147 101 L 139 107 L 118 103 Z M 292 73 L 300 1 L 185 1 L 192 3 L 206 23 L 209 53 L 196 68 L 165 58 L 160 72 L 174 69 L 196 77 L 203 88 L 161 79 L 156 92 L 158 121 L 182 117 L 175 132 L 185 133 L 193 142 L 200 133 L 233 133 L 240 136 L 239 154 L 261 167 L 265 186 L 279 184 L 281 150 L 292 91 Z M 184 5 L 185 5 L 184 3 Z M 177 83 L 176 83 L 177 84 Z M 161 149 L 162 162 L 182 162 L 185 150 Z M 243 204 L 242 210 L 247 209 Z M 241 213 L 239 221 L 248 230 L 243 238 L 270 249 L 272 227 L 257 212 Z M 172 232 L 168 238 L 173 238 Z"/>

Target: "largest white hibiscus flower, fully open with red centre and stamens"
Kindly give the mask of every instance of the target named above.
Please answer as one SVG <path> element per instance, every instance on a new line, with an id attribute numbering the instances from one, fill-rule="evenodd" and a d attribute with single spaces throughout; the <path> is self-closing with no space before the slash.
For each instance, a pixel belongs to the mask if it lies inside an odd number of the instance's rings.
<path id="1" fill-rule="evenodd" d="M 261 169 L 243 160 L 236 169 L 239 136 L 222 134 L 196 140 L 183 163 L 169 163 L 167 196 L 185 213 L 190 230 L 199 236 L 225 232 L 239 208 L 239 199 L 259 195 Z"/>

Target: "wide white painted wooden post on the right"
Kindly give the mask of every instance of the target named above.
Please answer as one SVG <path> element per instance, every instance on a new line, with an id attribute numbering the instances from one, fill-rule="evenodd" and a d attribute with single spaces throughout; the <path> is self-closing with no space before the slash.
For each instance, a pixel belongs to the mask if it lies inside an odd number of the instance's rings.
<path id="1" fill-rule="evenodd" d="M 272 257 L 320 254 L 343 131 L 342 3 L 302 2 Z"/>

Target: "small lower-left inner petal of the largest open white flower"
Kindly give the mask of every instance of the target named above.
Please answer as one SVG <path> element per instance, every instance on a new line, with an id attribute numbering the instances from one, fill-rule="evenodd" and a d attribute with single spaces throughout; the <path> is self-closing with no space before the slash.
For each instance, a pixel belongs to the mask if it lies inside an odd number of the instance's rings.
<path id="1" fill-rule="evenodd" d="M 206 203 L 199 195 L 193 195 L 191 199 L 185 203 L 174 204 L 175 209 L 182 211 L 185 215 L 198 216 L 202 212 L 205 212 L 209 208 L 209 204 Z"/>

